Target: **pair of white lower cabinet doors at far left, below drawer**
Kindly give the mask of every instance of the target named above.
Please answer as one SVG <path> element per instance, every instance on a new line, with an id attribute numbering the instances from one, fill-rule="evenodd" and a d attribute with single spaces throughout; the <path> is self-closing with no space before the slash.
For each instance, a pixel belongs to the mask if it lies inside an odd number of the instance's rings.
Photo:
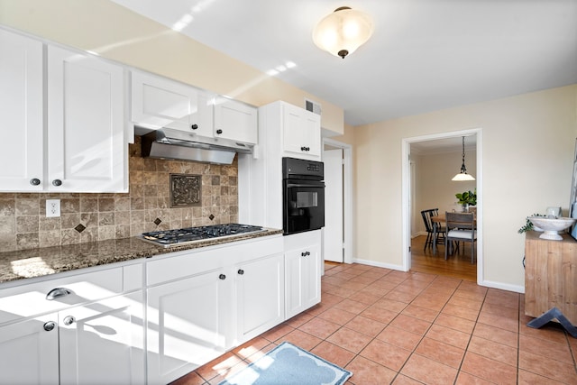
<path id="1" fill-rule="evenodd" d="M 0 383 L 142 384 L 142 308 L 140 291 L 0 326 Z"/>

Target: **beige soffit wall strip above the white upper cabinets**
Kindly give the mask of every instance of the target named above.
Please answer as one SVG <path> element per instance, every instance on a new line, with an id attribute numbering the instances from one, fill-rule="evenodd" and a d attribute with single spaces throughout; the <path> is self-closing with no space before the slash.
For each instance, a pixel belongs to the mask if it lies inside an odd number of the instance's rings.
<path id="1" fill-rule="evenodd" d="M 252 105 L 307 97 L 322 105 L 322 126 L 343 133 L 342 108 L 107 0 L 0 0 L 0 24 Z"/>

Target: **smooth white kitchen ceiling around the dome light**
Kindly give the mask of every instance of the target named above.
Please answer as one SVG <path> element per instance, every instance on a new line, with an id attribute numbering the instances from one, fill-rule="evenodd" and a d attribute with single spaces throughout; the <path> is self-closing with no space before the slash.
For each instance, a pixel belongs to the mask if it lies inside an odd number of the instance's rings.
<path id="1" fill-rule="evenodd" d="M 577 83 L 575 0 L 113 0 L 343 108 L 380 122 Z M 344 60 L 315 24 L 348 5 L 371 40 Z"/>

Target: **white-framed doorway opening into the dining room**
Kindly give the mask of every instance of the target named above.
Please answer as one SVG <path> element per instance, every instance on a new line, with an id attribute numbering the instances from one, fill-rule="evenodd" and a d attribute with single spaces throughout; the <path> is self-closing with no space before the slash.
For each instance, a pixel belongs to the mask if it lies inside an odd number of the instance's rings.
<path id="1" fill-rule="evenodd" d="M 451 180 L 461 166 L 461 141 L 465 136 L 467 170 L 475 181 Z M 403 267 L 452 276 L 463 280 L 482 281 L 482 157 L 481 128 L 451 133 L 438 133 L 403 139 Z M 468 138 L 468 139 L 467 139 Z M 458 146 L 455 147 L 455 143 Z M 457 150 L 458 148 L 458 150 Z M 458 156 L 455 156 L 458 153 Z M 456 159 L 456 160 L 455 160 Z M 444 244 L 425 246 L 426 229 L 421 210 L 438 208 L 461 211 L 456 192 L 475 189 L 477 192 L 476 263 L 471 264 L 470 248 L 462 247 L 444 260 Z"/>

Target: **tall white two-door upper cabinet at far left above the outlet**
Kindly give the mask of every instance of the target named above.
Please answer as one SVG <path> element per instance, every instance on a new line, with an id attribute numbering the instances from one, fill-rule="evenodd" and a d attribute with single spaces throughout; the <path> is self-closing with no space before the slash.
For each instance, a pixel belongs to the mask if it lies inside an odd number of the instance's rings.
<path id="1" fill-rule="evenodd" d="M 43 64 L 41 41 L 0 30 L 0 132 L 10 138 L 0 144 L 10 165 L 0 191 L 127 191 L 124 69 L 50 44 L 46 52 Z"/>

